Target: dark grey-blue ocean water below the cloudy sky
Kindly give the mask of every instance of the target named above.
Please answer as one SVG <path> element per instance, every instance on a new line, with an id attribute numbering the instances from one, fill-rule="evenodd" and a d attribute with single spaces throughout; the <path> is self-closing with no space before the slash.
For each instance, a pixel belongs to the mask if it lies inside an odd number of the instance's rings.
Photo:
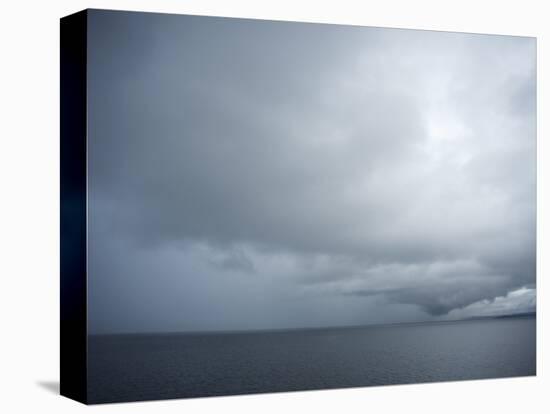
<path id="1" fill-rule="evenodd" d="M 536 374 L 535 317 L 208 334 L 97 335 L 90 403 Z"/>

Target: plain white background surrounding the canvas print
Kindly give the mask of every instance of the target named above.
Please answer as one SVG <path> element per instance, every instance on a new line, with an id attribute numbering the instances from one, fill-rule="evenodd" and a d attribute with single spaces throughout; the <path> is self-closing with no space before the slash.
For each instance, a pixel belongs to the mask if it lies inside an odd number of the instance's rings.
<path id="1" fill-rule="evenodd" d="M 0 14 L 0 411 L 548 412 L 548 108 L 545 1 L 12 1 Z M 59 381 L 59 21 L 110 8 L 538 37 L 538 376 L 86 408 Z M 546 122 L 545 122 L 546 121 Z M 545 189 L 546 187 L 546 189 Z M 545 405 L 547 407 L 545 407 Z"/>

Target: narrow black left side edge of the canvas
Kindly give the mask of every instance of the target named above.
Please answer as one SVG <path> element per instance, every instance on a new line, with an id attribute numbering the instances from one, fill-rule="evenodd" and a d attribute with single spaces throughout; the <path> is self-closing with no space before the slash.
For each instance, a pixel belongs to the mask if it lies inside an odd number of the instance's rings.
<path id="1" fill-rule="evenodd" d="M 87 403 L 87 18 L 60 19 L 60 394 Z"/>

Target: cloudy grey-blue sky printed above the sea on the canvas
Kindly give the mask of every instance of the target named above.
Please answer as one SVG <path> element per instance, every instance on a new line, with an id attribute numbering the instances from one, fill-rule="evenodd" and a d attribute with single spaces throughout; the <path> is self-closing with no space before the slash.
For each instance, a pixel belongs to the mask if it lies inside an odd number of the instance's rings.
<path id="1" fill-rule="evenodd" d="M 89 19 L 91 333 L 534 311 L 534 38 Z"/>

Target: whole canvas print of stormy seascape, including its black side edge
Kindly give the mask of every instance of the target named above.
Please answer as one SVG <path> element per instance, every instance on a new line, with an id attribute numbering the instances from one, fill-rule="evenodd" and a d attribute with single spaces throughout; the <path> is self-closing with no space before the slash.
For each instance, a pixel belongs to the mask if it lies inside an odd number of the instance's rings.
<path id="1" fill-rule="evenodd" d="M 536 39 L 106 10 L 61 36 L 62 393 L 536 374 Z"/>

